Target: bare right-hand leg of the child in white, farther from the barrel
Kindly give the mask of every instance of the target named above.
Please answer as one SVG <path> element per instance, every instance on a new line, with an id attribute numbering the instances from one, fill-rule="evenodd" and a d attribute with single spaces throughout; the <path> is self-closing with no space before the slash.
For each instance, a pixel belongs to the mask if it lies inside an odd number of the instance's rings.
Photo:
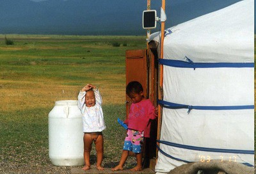
<path id="1" fill-rule="evenodd" d="M 97 170 L 104 170 L 104 168 L 102 168 L 101 166 L 101 162 L 103 160 L 103 154 L 104 154 L 103 144 L 104 144 L 103 136 L 99 135 L 95 141 L 95 148 L 97 152 Z"/>

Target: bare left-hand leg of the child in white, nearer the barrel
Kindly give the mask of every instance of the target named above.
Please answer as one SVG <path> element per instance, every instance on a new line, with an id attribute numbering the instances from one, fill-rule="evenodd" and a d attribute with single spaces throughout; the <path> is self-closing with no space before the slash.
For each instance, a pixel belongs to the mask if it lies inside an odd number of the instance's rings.
<path id="1" fill-rule="evenodd" d="M 91 164 L 90 164 L 90 152 L 92 150 L 92 138 L 90 134 L 84 134 L 84 162 L 85 166 L 83 167 L 83 170 L 90 170 Z"/>

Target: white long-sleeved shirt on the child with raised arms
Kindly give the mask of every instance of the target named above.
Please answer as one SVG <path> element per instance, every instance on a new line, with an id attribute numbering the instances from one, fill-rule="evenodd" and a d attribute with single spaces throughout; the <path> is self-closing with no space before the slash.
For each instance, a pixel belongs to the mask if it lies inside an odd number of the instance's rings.
<path id="1" fill-rule="evenodd" d="M 95 106 L 86 107 L 85 95 L 86 91 L 80 91 L 78 95 L 78 107 L 83 115 L 83 132 L 101 132 L 106 129 L 102 112 L 102 99 L 99 90 L 96 88 L 95 94 Z"/>

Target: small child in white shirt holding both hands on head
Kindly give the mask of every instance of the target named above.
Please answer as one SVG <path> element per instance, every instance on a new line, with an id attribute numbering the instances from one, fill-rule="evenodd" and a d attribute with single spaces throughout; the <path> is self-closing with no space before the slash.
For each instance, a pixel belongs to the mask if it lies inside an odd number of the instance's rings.
<path id="1" fill-rule="evenodd" d="M 97 152 L 97 170 L 104 170 L 101 163 L 103 159 L 103 135 L 106 125 L 102 112 L 102 99 L 99 90 L 92 84 L 87 84 L 78 95 L 78 107 L 83 115 L 84 132 L 84 162 L 83 170 L 90 170 L 90 152 L 92 143 L 95 143 Z"/>

